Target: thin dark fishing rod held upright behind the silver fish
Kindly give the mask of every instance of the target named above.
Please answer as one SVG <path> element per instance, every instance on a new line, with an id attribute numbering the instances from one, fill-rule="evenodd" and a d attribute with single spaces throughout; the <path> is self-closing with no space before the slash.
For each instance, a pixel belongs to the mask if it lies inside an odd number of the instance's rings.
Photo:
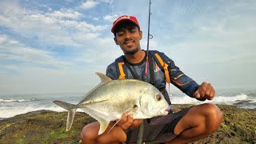
<path id="1" fill-rule="evenodd" d="M 149 67 L 149 49 L 150 49 L 150 39 L 153 38 L 153 36 L 150 34 L 150 15 L 152 14 L 150 12 L 151 7 L 151 0 L 149 4 L 149 22 L 148 22 L 148 29 L 147 29 L 147 44 L 146 44 L 146 66 L 145 66 L 145 78 L 144 81 L 146 82 L 146 78 L 148 75 L 148 67 Z M 143 121 L 140 126 L 138 126 L 138 138 L 137 138 L 137 144 L 142 144 L 143 142 L 143 133 L 144 133 L 144 125 Z"/>

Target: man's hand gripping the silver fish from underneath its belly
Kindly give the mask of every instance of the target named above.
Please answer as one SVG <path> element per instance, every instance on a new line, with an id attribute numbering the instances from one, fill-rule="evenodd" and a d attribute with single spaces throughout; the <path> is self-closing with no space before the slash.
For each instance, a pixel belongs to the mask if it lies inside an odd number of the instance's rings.
<path id="1" fill-rule="evenodd" d="M 118 126 L 122 127 L 122 130 L 126 130 L 130 127 L 138 127 L 142 123 L 143 119 L 134 119 L 132 114 L 126 115 L 119 122 Z"/>

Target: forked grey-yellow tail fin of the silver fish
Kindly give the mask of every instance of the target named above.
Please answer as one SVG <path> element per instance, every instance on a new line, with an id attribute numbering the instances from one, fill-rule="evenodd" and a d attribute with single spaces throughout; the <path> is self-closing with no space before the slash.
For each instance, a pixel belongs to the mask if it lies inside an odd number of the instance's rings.
<path id="1" fill-rule="evenodd" d="M 66 119 L 66 131 L 70 130 L 72 123 L 74 121 L 74 114 L 78 108 L 75 105 L 68 102 L 54 101 L 54 103 L 68 110 L 67 119 Z"/>

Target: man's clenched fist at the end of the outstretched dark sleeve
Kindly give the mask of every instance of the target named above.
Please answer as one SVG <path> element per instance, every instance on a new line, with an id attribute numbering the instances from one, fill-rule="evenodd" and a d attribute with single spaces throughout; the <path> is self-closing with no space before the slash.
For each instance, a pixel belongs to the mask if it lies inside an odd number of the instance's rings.
<path id="1" fill-rule="evenodd" d="M 198 90 L 194 92 L 194 98 L 206 98 L 212 100 L 215 96 L 214 87 L 210 83 L 202 82 L 202 85 L 198 87 Z"/>

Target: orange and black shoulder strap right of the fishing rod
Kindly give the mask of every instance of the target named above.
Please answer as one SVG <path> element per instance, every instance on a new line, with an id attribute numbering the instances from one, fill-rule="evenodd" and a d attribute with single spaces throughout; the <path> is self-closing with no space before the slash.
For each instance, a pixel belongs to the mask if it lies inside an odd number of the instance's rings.
<path id="1" fill-rule="evenodd" d="M 166 82 L 170 83 L 168 62 L 165 62 L 165 58 L 161 58 L 161 56 L 157 50 L 150 50 L 150 54 L 153 56 L 154 61 L 157 62 L 160 69 L 165 73 Z"/>

